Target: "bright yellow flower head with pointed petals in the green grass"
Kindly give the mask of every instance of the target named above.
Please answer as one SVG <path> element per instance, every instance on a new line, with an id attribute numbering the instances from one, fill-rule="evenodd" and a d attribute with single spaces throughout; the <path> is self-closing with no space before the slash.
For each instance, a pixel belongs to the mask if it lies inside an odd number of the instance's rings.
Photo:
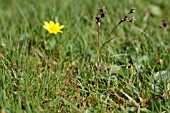
<path id="1" fill-rule="evenodd" d="M 49 33 L 57 34 L 57 33 L 63 33 L 61 29 L 64 28 L 64 25 L 60 26 L 59 23 L 54 23 L 53 21 L 50 22 L 45 21 L 43 28 L 46 29 Z"/>

